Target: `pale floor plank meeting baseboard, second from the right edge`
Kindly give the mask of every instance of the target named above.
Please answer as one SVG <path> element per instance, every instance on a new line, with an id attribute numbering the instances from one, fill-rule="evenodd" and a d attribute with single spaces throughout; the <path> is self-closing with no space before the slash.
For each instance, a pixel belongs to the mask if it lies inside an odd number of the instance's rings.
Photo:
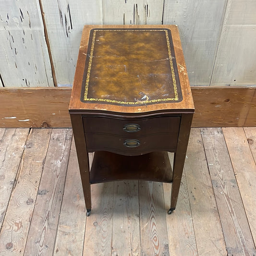
<path id="1" fill-rule="evenodd" d="M 256 165 L 244 129 L 222 128 L 244 209 L 256 241 Z M 256 254 L 256 253 L 255 253 Z"/>

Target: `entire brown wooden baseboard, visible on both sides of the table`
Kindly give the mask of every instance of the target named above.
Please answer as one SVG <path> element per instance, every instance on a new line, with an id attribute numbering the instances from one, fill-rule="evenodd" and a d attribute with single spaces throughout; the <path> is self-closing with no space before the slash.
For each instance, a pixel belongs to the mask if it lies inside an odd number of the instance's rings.
<path id="1" fill-rule="evenodd" d="M 71 127 L 72 88 L 0 88 L 0 127 Z M 193 127 L 256 126 L 256 87 L 191 87 Z"/>

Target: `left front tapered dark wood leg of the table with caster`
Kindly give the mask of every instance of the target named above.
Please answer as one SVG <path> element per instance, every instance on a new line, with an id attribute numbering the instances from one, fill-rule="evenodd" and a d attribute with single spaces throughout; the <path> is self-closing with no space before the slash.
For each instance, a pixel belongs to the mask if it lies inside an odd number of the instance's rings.
<path id="1" fill-rule="evenodd" d="M 81 181 L 83 186 L 83 192 L 85 196 L 85 206 L 87 209 L 86 215 L 89 216 L 92 208 L 91 200 L 91 185 L 90 185 L 90 169 L 89 169 L 89 158 L 86 149 L 84 124 L 81 114 L 70 114 L 74 142 L 76 147 L 76 154 L 79 164 L 79 170 L 81 175 Z"/>

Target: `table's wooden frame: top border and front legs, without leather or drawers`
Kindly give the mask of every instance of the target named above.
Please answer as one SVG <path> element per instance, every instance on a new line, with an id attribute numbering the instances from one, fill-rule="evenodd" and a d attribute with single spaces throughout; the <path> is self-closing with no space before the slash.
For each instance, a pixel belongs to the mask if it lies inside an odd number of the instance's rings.
<path id="1" fill-rule="evenodd" d="M 175 51 L 177 67 L 179 71 L 179 80 L 182 89 L 183 100 L 175 103 L 151 104 L 148 106 L 117 106 L 103 103 L 84 103 L 80 100 L 81 88 L 85 69 L 85 59 L 87 53 L 87 45 L 89 39 L 89 32 L 92 28 L 168 28 L 171 30 L 173 47 Z M 183 166 L 186 156 L 186 149 L 189 140 L 190 128 L 194 113 L 194 102 L 190 90 L 188 76 L 183 58 L 183 51 L 181 47 L 178 28 L 176 25 L 85 25 L 83 30 L 81 45 L 79 49 L 78 61 L 76 66 L 75 78 L 73 83 L 73 91 L 70 101 L 70 117 L 73 127 L 73 135 L 77 151 L 77 158 L 83 185 L 83 192 L 85 195 L 85 205 L 87 209 L 87 216 L 90 215 L 91 189 L 90 189 L 90 168 L 89 158 L 85 142 L 85 129 L 83 118 L 90 115 L 117 115 L 120 118 L 133 117 L 147 117 L 150 115 L 166 115 L 179 116 L 180 127 L 178 134 L 177 147 L 174 152 L 173 172 L 172 172 L 172 188 L 171 188 L 171 208 L 169 214 L 175 209 L 181 184 L 183 173 Z M 172 151 L 173 152 L 173 151 Z"/>

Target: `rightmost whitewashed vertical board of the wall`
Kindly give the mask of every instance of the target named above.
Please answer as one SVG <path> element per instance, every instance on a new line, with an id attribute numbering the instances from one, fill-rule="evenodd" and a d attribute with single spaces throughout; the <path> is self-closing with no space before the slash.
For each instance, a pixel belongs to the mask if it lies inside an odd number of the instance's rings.
<path id="1" fill-rule="evenodd" d="M 255 0 L 229 0 L 210 85 L 256 84 Z"/>

